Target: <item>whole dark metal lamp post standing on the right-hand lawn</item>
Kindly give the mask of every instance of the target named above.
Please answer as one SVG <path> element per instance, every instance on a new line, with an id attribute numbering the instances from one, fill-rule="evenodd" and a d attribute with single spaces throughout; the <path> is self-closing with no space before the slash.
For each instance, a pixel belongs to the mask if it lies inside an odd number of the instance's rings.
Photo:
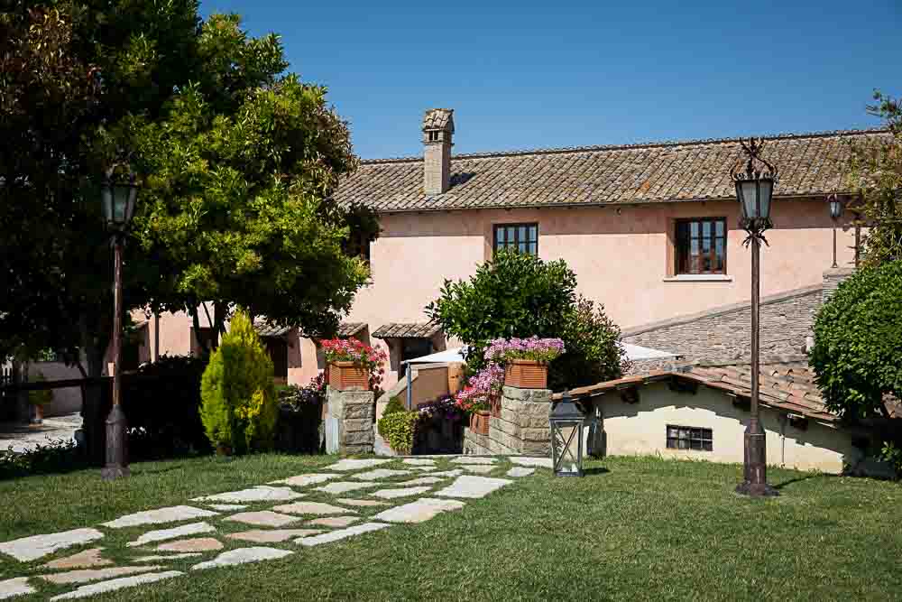
<path id="1" fill-rule="evenodd" d="M 745 430 L 745 480 L 736 487 L 743 495 L 778 495 L 778 491 L 768 485 L 767 478 L 767 436 L 759 420 L 759 316 L 761 279 L 761 242 L 767 244 L 764 232 L 772 226 L 770 221 L 770 201 L 774 185 L 777 183 L 777 168 L 760 156 L 761 140 L 750 138 L 749 143 L 741 141 L 748 162 L 741 171 L 741 162 L 732 168 L 730 175 L 736 185 L 736 198 L 741 208 L 740 226 L 749 236 L 745 245 L 751 246 L 751 412 L 749 425 Z"/>

